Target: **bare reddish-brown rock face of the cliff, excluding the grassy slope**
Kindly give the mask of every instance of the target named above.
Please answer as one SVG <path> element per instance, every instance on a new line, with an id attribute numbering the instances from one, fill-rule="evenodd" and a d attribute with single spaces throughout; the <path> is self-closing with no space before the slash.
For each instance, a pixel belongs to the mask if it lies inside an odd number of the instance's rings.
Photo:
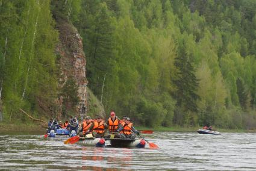
<path id="1" fill-rule="evenodd" d="M 60 43 L 56 48 L 56 53 L 60 55 L 59 87 L 60 89 L 63 87 L 67 78 L 75 79 L 76 85 L 78 85 L 79 98 L 76 113 L 83 117 L 87 113 L 86 94 L 88 81 L 86 79 L 86 57 L 83 52 L 82 39 L 72 23 L 61 18 L 55 20 L 60 39 Z M 59 105 L 58 118 L 61 119 L 61 105 L 63 104 L 61 96 L 58 98 L 57 104 Z"/>

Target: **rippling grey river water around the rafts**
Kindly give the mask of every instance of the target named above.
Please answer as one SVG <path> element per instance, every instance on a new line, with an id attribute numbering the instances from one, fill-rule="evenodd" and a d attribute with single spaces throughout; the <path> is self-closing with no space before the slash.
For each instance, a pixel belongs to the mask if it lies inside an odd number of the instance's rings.
<path id="1" fill-rule="evenodd" d="M 43 135 L 0 135 L 0 170 L 256 170 L 255 133 L 143 136 L 160 149 L 93 148 L 43 140 Z"/>

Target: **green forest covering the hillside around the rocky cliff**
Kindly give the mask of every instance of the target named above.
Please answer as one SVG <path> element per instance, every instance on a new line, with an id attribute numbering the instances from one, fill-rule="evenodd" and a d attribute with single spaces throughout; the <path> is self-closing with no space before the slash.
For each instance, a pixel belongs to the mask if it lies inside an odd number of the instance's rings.
<path id="1" fill-rule="evenodd" d="M 254 0 L 0 0 L 1 122 L 57 108 L 54 13 L 83 38 L 87 86 L 106 117 L 256 128 Z"/>

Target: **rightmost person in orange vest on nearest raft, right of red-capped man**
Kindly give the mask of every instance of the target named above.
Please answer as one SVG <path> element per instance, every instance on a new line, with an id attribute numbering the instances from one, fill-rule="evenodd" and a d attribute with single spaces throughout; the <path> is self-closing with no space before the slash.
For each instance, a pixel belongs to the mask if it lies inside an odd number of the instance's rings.
<path id="1" fill-rule="evenodd" d="M 122 123 L 122 126 L 119 126 L 117 131 L 120 132 L 120 138 L 130 138 L 134 140 L 136 134 L 140 135 L 140 132 L 134 128 L 133 123 L 130 121 L 129 117 L 126 117 Z"/>

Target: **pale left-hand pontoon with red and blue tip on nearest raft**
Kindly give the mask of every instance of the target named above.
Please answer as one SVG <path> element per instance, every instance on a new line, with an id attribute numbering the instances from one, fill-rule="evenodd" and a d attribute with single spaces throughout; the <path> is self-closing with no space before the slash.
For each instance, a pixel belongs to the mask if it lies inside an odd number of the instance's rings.
<path id="1" fill-rule="evenodd" d="M 81 146 L 95 146 L 97 148 L 104 148 L 105 147 L 105 140 L 104 138 L 80 138 L 76 144 Z"/>

